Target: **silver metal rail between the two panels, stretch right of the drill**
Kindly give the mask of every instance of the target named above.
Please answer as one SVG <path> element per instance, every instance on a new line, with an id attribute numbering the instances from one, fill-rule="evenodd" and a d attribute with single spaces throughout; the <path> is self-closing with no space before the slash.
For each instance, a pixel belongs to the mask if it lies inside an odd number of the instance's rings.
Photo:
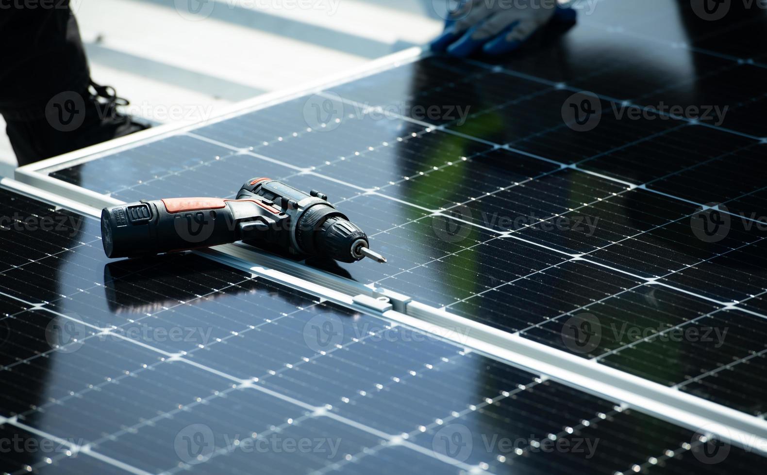
<path id="1" fill-rule="evenodd" d="M 334 303 L 420 329 L 519 369 L 548 376 L 701 434 L 715 435 L 767 457 L 764 419 L 437 309 L 409 296 L 367 287 L 244 244 L 225 244 L 199 254 Z"/>

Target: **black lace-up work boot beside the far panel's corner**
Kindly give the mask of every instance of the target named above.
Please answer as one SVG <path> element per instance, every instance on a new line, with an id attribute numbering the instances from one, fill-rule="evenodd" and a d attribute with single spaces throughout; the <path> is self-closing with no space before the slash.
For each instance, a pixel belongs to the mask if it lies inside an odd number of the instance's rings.
<path id="1" fill-rule="evenodd" d="M 18 165 L 148 129 L 149 123 L 117 110 L 117 106 L 127 105 L 114 88 L 91 81 L 91 87 L 82 93 L 64 91 L 51 98 L 44 116 L 31 111 L 30 118 L 7 120 L 6 131 Z"/>

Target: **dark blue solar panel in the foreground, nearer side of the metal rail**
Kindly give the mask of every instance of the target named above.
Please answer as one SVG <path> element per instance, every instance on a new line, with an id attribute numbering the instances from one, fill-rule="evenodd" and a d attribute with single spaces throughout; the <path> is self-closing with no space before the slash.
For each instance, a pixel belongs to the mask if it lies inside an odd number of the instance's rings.
<path id="1" fill-rule="evenodd" d="M 0 430 L 33 447 L 2 452 L 8 473 L 708 467 L 692 431 L 203 257 L 108 262 L 94 218 L 0 200 L 21 222 L 77 223 L 2 233 L 18 264 L 0 273 Z M 30 286 L 33 269 L 50 283 Z M 463 436 L 471 450 L 450 459 L 441 437 Z M 547 440 L 573 450 L 548 457 Z M 727 466 L 751 473 L 758 456 L 733 451 Z"/>

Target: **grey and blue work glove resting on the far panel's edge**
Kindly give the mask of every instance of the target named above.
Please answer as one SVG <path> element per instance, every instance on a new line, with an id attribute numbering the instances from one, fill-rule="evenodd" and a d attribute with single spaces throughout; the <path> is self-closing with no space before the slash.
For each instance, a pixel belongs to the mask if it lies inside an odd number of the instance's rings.
<path id="1" fill-rule="evenodd" d="M 575 11 L 556 0 L 463 0 L 450 12 L 432 51 L 466 57 L 479 51 L 504 54 L 519 48 L 549 21 L 574 23 Z"/>

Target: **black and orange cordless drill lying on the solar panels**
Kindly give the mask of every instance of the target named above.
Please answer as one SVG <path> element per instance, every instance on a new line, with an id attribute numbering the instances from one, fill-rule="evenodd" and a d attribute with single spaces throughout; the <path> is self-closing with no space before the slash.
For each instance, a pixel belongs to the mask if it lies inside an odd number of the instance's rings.
<path id="1" fill-rule="evenodd" d="M 272 179 L 252 179 L 236 199 L 166 198 L 110 206 L 101 211 L 107 257 L 145 257 L 245 241 L 301 257 L 354 262 L 370 257 L 367 234 L 312 190 Z"/>

